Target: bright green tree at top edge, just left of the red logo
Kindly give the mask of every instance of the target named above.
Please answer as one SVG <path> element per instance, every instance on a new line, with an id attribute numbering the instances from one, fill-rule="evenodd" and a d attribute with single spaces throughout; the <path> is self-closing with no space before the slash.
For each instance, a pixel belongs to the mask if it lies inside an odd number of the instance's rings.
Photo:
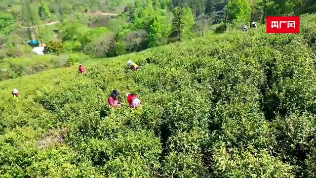
<path id="1" fill-rule="evenodd" d="M 250 4 L 248 0 L 230 0 L 227 8 L 229 21 L 245 22 L 249 19 Z"/>

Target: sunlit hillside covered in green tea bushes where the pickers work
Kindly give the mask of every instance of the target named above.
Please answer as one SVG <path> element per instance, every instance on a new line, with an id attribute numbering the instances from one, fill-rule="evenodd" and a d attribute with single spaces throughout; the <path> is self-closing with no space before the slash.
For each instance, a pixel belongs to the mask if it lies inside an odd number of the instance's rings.
<path id="1" fill-rule="evenodd" d="M 0 177 L 316 178 L 316 15 L 301 21 L 0 82 Z"/>

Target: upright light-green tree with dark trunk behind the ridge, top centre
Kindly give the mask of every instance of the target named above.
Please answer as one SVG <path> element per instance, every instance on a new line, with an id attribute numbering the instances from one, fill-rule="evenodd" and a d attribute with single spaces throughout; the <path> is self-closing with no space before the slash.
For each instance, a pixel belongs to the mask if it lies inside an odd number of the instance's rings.
<path id="1" fill-rule="evenodd" d="M 173 14 L 173 33 L 177 34 L 178 41 L 193 37 L 195 21 L 190 7 L 176 7 Z"/>

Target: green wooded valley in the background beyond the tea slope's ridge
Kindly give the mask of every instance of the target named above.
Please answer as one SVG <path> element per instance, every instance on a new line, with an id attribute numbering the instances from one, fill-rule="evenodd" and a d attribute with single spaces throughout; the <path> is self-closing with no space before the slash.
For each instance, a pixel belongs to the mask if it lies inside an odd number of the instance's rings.
<path id="1" fill-rule="evenodd" d="M 0 59 L 29 54 L 22 43 L 34 39 L 60 43 L 51 54 L 112 57 L 315 10 L 316 0 L 1 0 Z"/>

